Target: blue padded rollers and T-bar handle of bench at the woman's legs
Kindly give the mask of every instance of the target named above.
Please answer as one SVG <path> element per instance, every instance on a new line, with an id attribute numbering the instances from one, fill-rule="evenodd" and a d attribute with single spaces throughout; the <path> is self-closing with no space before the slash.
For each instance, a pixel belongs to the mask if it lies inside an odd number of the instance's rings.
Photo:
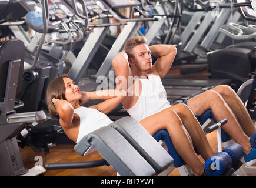
<path id="1" fill-rule="evenodd" d="M 243 149 L 237 143 L 234 143 L 228 146 L 226 149 L 222 151 L 221 149 L 221 129 L 219 128 L 221 125 L 224 125 L 227 122 L 227 119 L 222 120 L 221 122 L 217 122 L 214 125 L 205 128 L 207 132 L 210 133 L 215 129 L 218 129 L 218 153 L 212 156 L 210 159 L 205 162 L 205 170 L 211 176 L 230 176 L 239 167 L 242 165 L 240 159 L 243 155 Z M 191 174 L 191 170 L 188 169 L 184 160 L 178 155 L 177 151 L 172 144 L 171 138 L 168 135 L 167 130 L 159 130 L 154 138 L 159 142 L 159 140 L 163 139 L 168 148 L 168 153 L 174 159 L 174 166 L 179 168 L 179 173 L 181 176 L 188 176 Z M 217 160 L 217 161 L 216 161 Z M 220 163 L 219 163 L 220 162 Z M 218 165 L 218 167 L 216 166 Z"/>

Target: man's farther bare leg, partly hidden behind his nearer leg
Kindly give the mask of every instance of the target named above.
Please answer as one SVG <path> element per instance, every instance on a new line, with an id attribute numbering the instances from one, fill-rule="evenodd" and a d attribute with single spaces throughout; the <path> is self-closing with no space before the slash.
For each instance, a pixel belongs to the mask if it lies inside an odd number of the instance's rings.
<path id="1" fill-rule="evenodd" d="M 238 123 L 241 125 L 244 133 L 248 137 L 251 137 L 251 135 L 256 132 L 256 127 L 252 122 L 247 109 L 242 103 L 242 100 L 237 96 L 237 93 L 235 93 L 235 91 L 227 85 L 216 86 L 212 90 L 215 90 L 222 96 L 234 113 L 235 117 L 237 117 Z"/>

